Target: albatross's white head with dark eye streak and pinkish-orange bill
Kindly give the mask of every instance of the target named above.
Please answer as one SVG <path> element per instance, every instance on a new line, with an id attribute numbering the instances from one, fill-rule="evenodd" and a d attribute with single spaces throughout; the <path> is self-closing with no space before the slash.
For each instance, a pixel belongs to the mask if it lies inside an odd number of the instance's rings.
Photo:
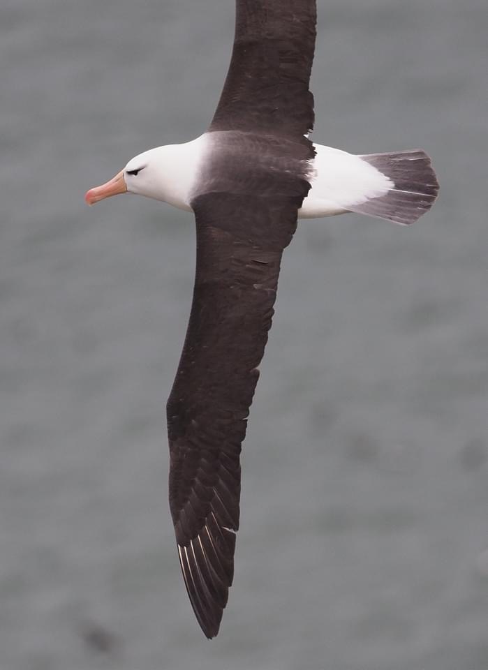
<path id="1" fill-rule="evenodd" d="M 106 184 L 90 188 L 84 199 L 95 204 L 118 193 L 138 193 L 148 198 L 165 200 L 165 173 L 168 172 L 167 147 L 149 149 L 127 163 L 124 170 Z"/>

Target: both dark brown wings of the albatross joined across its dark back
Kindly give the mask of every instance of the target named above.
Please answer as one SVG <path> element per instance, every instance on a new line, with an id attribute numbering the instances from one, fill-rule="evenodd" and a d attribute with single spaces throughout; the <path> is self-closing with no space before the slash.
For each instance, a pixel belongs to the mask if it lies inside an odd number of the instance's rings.
<path id="1" fill-rule="evenodd" d="M 191 202 L 195 288 L 168 400 L 170 509 L 193 611 L 219 632 L 234 574 L 239 455 L 283 249 L 309 191 L 311 0 L 237 0 L 232 62 Z"/>

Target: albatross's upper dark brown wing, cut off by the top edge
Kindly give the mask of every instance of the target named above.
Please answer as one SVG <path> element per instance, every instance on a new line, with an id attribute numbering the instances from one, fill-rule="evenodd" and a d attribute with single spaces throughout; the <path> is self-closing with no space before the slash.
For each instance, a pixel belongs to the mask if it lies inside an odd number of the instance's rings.
<path id="1" fill-rule="evenodd" d="M 306 135 L 316 0 L 237 0 L 230 68 L 210 131 Z"/>

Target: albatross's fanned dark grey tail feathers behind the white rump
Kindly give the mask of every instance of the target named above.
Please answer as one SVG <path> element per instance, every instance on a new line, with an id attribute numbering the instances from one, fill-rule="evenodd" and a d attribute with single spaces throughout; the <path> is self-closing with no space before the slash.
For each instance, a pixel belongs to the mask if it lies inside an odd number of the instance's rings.
<path id="1" fill-rule="evenodd" d="M 384 174 L 393 186 L 378 198 L 348 207 L 351 211 L 408 225 L 417 221 L 434 204 L 439 184 L 431 160 L 422 149 L 364 154 L 358 158 Z"/>

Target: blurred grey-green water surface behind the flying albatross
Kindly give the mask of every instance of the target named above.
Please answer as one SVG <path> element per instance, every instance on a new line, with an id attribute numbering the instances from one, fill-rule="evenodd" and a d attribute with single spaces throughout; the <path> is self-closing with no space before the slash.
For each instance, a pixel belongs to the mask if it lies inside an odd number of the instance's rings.
<path id="1" fill-rule="evenodd" d="M 318 5 L 313 137 L 422 147 L 441 196 L 300 223 L 208 642 L 167 504 L 193 218 L 83 195 L 205 130 L 233 3 L 2 0 L 1 670 L 488 669 L 488 3 Z"/>

